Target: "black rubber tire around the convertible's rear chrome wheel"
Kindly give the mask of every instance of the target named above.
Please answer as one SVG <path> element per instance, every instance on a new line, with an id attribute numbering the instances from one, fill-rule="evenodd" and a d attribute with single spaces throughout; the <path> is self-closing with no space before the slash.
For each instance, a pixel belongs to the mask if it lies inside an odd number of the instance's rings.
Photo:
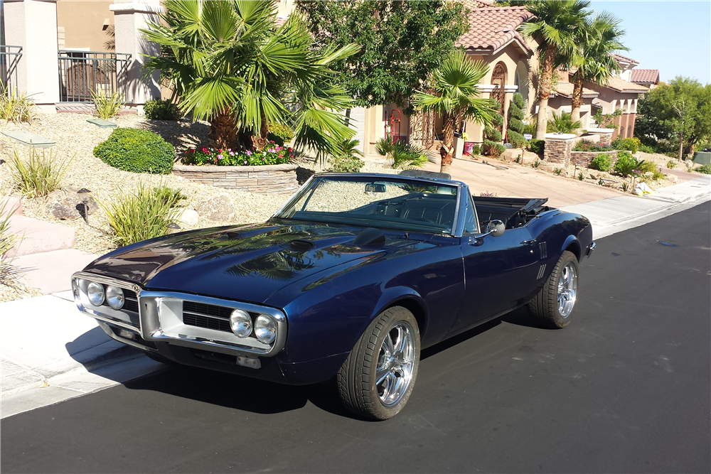
<path id="1" fill-rule="evenodd" d="M 563 252 L 558 263 L 555 264 L 555 268 L 552 273 L 543 284 L 543 288 L 538 292 L 538 294 L 528 303 L 528 311 L 530 311 L 531 316 L 536 318 L 542 325 L 547 328 L 565 328 L 570 323 L 572 311 L 574 311 L 573 306 L 568 311 L 567 315 L 562 315 L 559 311 L 558 304 L 558 285 L 560 279 L 562 278 L 564 269 L 566 266 L 572 266 L 574 269 L 574 279 L 576 285 L 576 291 L 574 297 L 577 299 L 577 281 L 579 275 L 579 266 L 577 257 L 572 252 L 567 250 Z"/>

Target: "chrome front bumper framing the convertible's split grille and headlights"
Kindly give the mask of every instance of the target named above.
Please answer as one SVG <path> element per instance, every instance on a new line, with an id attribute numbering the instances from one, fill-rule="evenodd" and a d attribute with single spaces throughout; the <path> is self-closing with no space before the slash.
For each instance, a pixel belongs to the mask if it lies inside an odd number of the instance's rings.
<path id="1" fill-rule="evenodd" d="M 134 291 L 138 299 L 138 313 L 114 310 L 108 306 L 92 306 L 85 293 L 86 284 L 82 280 L 97 281 L 101 284 L 119 286 L 119 288 Z M 282 311 L 267 306 L 188 293 L 146 291 L 127 281 L 82 271 L 72 276 L 72 289 L 74 301 L 82 313 L 99 321 L 102 328 L 112 338 L 142 350 L 156 350 L 154 343 L 168 343 L 235 356 L 271 357 L 277 355 L 284 348 L 284 343 L 287 340 L 287 317 Z M 277 322 L 277 336 L 271 344 L 264 344 L 257 338 L 239 338 L 234 333 L 225 330 L 188 325 L 183 322 L 183 301 L 228 309 L 242 309 L 247 313 L 267 314 Z M 218 319 L 208 314 L 200 316 Z M 117 330 L 111 330 L 110 326 L 114 326 Z M 144 341 L 147 341 L 148 344 Z"/>

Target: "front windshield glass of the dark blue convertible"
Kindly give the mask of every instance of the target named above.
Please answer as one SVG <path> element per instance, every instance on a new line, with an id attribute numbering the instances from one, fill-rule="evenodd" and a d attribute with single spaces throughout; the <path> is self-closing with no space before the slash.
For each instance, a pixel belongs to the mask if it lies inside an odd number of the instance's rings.
<path id="1" fill-rule="evenodd" d="M 274 217 L 450 234 L 456 185 L 382 176 L 319 176 Z"/>

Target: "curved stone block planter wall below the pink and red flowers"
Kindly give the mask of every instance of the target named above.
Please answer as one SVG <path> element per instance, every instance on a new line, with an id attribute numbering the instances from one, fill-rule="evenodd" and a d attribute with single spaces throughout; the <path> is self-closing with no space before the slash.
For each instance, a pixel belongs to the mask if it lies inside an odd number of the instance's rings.
<path id="1" fill-rule="evenodd" d="M 299 189 L 296 165 L 173 166 L 173 174 L 218 188 L 248 193 L 293 194 Z"/>

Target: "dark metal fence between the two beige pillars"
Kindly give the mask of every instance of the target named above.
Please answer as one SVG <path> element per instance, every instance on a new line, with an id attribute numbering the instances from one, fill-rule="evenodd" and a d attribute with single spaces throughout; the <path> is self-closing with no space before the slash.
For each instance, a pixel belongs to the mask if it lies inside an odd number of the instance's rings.
<path id="1" fill-rule="evenodd" d="M 62 102 L 92 102 L 92 92 L 119 92 L 125 100 L 130 54 L 59 50 Z"/>

